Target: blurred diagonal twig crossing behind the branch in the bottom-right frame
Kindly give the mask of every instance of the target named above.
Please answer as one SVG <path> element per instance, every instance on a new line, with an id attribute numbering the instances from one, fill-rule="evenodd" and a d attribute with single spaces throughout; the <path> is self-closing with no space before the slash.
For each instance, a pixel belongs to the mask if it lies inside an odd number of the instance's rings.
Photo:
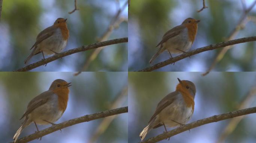
<path id="1" fill-rule="evenodd" d="M 244 97 L 243 101 L 240 103 L 240 105 L 238 106 L 238 110 L 239 109 L 244 109 L 244 108 L 248 108 L 253 101 L 255 101 L 256 98 L 256 86 L 253 86 L 250 90 L 250 92 Z M 232 118 L 229 123 L 224 127 L 222 133 L 219 136 L 219 139 L 217 141 L 217 143 L 222 143 L 226 137 L 229 136 L 229 134 L 231 134 L 235 128 L 237 127 L 238 123 L 244 118 L 245 116 L 240 116 L 237 118 Z"/>

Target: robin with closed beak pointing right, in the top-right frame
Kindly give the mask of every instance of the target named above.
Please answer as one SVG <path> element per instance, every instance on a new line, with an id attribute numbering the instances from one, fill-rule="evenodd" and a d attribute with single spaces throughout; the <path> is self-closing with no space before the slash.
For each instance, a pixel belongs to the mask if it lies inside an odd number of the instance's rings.
<path id="1" fill-rule="evenodd" d="M 164 50 L 167 50 L 170 55 L 171 53 L 181 54 L 188 51 L 195 41 L 198 27 L 197 23 L 200 21 L 201 20 L 187 18 L 181 25 L 167 31 L 164 34 L 162 41 L 156 46 L 158 47 L 160 45 L 160 48 L 150 59 L 149 63 L 152 63 L 152 61 L 155 60 L 155 58 Z M 173 57 L 171 56 L 171 58 Z"/>

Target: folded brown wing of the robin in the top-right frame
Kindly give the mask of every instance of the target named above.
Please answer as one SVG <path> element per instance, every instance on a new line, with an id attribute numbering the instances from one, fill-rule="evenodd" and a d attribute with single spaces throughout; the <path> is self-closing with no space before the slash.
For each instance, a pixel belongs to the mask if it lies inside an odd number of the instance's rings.
<path id="1" fill-rule="evenodd" d="M 179 25 L 174 27 L 173 29 L 167 31 L 163 38 L 162 41 L 158 43 L 158 45 L 156 47 L 158 47 L 159 45 L 163 44 L 164 42 L 166 42 L 168 39 L 173 38 L 177 35 L 179 35 L 180 33 L 182 33 L 182 31 L 184 30 L 184 26 L 183 25 Z"/>

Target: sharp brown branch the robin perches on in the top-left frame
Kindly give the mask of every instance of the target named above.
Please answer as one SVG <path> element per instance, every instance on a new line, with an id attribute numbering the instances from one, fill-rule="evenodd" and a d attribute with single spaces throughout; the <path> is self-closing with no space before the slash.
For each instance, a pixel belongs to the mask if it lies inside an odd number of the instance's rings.
<path id="1" fill-rule="evenodd" d="M 103 47 L 103 46 L 107 46 L 107 45 L 124 43 L 124 42 L 128 42 L 128 37 L 113 39 L 113 40 L 104 41 L 104 42 L 98 42 L 98 43 L 87 45 L 87 46 L 81 46 L 79 48 L 74 48 L 74 49 L 65 51 L 63 53 L 56 54 L 52 57 L 46 58 L 44 60 L 41 60 L 41 61 L 38 61 L 36 63 L 30 64 L 28 66 L 22 67 L 21 69 L 18 69 L 18 70 L 15 70 L 15 71 L 28 71 L 28 70 L 34 69 L 36 67 L 42 66 L 44 64 L 47 64 L 51 61 L 57 60 L 58 58 L 65 57 L 67 55 L 71 55 L 71 54 L 74 54 L 74 53 L 87 51 L 87 50 L 91 50 L 91 49 L 95 49 L 95 48 L 99 48 L 99 47 Z"/>

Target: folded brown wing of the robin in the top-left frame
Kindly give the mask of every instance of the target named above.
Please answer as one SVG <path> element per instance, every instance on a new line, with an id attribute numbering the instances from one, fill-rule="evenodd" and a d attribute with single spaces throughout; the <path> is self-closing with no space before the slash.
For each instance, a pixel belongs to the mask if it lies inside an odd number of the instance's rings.
<path id="1" fill-rule="evenodd" d="M 42 42 L 43 40 L 49 38 L 51 35 L 54 34 L 55 30 L 57 29 L 57 27 L 55 26 L 50 26 L 46 29 L 44 29 L 43 31 L 41 31 L 37 37 L 36 37 L 36 42 L 35 44 L 30 48 L 30 50 L 34 47 L 36 47 L 37 44 L 39 44 L 40 42 Z"/>

